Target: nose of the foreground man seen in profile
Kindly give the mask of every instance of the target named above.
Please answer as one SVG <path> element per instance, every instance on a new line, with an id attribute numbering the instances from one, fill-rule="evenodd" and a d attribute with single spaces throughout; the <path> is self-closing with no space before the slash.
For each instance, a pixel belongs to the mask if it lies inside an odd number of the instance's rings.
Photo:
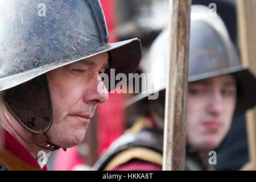
<path id="1" fill-rule="evenodd" d="M 108 90 L 100 76 L 94 78 L 89 85 L 89 88 L 84 93 L 85 102 L 96 102 L 96 104 L 102 104 L 109 100 Z"/>

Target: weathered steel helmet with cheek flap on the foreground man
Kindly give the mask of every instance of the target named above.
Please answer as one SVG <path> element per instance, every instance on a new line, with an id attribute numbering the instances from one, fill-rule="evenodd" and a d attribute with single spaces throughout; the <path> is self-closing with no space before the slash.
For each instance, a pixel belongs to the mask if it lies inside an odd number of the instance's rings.
<path id="1" fill-rule="evenodd" d="M 141 59 L 137 38 L 108 43 L 100 1 L 0 1 L 0 91 L 6 90 L 7 107 L 32 133 L 45 133 L 52 124 L 44 73 L 102 52 L 109 53 L 115 73 L 126 75 Z"/>

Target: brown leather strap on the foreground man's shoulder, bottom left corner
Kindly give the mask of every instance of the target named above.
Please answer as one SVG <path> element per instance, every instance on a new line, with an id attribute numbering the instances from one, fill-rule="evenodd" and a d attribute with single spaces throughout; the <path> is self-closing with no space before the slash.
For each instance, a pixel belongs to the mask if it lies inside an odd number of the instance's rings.
<path id="1" fill-rule="evenodd" d="M 24 162 L 5 148 L 0 148 L 0 163 L 10 171 L 42 171 L 42 169 Z"/>

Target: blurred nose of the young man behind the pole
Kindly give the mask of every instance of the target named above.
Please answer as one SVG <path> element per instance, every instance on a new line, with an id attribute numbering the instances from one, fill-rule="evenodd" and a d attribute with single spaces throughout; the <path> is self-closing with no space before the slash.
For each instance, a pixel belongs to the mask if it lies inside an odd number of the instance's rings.
<path id="1" fill-rule="evenodd" d="M 218 115 L 224 109 L 222 95 L 219 92 L 214 92 L 210 98 L 207 105 L 207 111 L 210 114 Z"/>

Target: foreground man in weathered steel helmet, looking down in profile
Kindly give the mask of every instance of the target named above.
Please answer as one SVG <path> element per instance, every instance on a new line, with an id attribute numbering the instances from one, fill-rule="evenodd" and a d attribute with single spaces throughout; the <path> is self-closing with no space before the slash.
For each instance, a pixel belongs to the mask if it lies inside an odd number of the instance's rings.
<path id="1" fill-rule="evenodd" d="M 1 169 L 46 170 L 50 151 L 79 144 L 110 91 L 100 73 L 133 73 L 138 39 L 108 43 L 100 2 L 0 2 Z M 101 90 L 102 91 L 102 90 Z"/>

